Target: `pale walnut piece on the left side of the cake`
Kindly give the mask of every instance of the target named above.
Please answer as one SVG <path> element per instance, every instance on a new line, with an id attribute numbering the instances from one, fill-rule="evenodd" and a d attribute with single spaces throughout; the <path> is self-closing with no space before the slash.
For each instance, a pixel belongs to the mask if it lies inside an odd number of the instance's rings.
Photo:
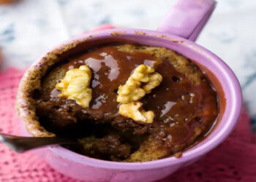
<path id="1" fill-rule="evenodd" d="M 80 66 L 67 71 L 64 79 L 56 84 L 56 89 L 60 90 L 59 97 L 75 100 L 78 105 L 84 108 L 89 107 L 91 101 L 91 70 L 88 66 Z"/>

